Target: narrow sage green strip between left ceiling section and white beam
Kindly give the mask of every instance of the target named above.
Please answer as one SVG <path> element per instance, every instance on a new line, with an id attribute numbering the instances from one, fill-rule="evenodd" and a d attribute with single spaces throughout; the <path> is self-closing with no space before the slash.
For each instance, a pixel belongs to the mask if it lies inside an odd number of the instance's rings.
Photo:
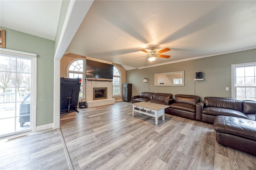
<path id="1" fill-rule="evenodd" d="M 66 18 L 66 13 L 68 11 L 69 2 L 70 2 L 70 0 L 62 0 L 61 10 L 60 10 L 60 18 L 59 18 L 58 28 L 57 28 L 57 32 L 56 32 L 56 38 L 55 38 L 56 43 L 54 45 L 54 51 L 56 51 L 58 42 L 60 40 L 60 33 L 62 31 L 64 20 Z"/>

